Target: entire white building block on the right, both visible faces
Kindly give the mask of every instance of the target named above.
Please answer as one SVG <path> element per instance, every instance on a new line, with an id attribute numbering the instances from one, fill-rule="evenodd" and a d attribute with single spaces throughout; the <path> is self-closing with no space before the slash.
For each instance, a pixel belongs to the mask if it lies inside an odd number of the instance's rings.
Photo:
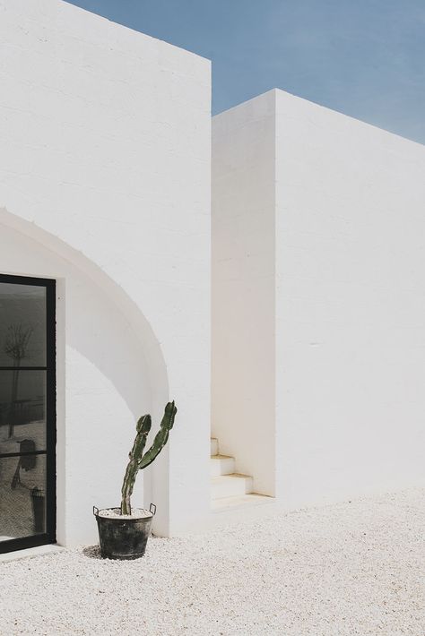
<path id="1" fill-rule="evenodd" d="M 212 429 L 290 507 L 424 483 L 425 148 L 281 90 L 212 140 Z"/>

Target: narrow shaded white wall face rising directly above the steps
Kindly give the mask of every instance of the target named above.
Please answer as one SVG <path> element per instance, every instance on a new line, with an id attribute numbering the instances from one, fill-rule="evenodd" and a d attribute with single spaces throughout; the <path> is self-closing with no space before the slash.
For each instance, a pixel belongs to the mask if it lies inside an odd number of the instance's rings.
<path id="1" fill-rule="evenodd" d="M 274 95 L 212 119 L 212 434 L 274 494 Z"/>

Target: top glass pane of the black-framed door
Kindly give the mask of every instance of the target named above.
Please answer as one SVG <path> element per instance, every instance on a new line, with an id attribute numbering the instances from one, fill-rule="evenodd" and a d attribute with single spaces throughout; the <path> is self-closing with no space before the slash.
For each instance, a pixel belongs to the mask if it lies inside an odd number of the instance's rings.
<path id="1" fill-rule="evenodd" d="M 46 365 L 46 288 L 0 283 L 0 366 Z"/>

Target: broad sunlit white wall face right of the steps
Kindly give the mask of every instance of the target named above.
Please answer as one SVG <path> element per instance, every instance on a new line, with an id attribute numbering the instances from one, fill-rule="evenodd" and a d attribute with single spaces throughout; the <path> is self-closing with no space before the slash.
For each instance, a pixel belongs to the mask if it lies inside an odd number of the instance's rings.
<path id="1" fill-rule="evenodd" d="M 425 147 L 275 96 L 280 494 L 423 484 Z"/>

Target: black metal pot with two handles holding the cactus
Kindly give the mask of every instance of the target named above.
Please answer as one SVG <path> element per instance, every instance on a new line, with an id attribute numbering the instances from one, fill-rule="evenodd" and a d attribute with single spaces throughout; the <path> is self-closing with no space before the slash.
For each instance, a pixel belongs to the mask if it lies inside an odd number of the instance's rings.
<path id="1" fill-rule="evenodd" d="M 103 510 L 114 510 L 106 508 Z M 116 510 L 116 509 L 115 509 Z M 120 519 L 102 517 L 99 508 L 93 506 L 93 514 L 98 522 L 100 553 L 104 559 L 140 559 L 146 549 L 151 534 L 153 515 L 156 506 L 151 503 L 148 517 Z"/>

